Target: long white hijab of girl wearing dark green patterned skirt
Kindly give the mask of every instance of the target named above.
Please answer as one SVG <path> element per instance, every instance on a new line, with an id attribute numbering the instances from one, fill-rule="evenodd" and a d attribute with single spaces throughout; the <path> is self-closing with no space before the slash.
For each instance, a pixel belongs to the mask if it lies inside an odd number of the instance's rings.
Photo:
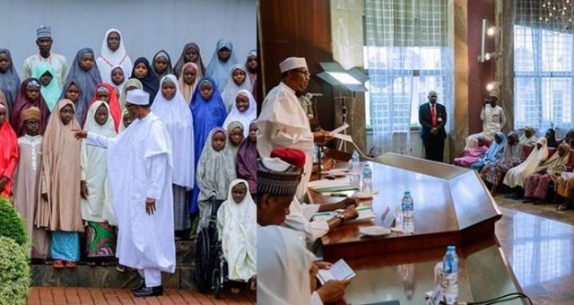
<path id="1" fill-rule="evenodd" d="M 103 126 L 96 123 L 93 118 L 100 105 L 108 109 L 108 120 Z M 114 137 L 117 135 L 114 128 L 114 119 L 109 112 L 108 103 L 97 100 L 91 104 L 86 117 L 86 131 Z M 112 210 L 108 187 L 108 152 L 100 147 L 82 143 L 82 180 L 88 187 L 88 199 L 82 198 L 82 219 L 89 222 L 108 222 L 117 225 L 116 216 Z"/>

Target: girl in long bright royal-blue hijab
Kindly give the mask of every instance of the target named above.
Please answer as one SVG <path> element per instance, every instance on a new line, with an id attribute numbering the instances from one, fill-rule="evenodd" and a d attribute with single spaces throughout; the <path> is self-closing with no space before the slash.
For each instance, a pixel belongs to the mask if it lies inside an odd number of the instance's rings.
<path id="1" fill-rule="evenodd" d="M 194 118 L 194 168 L 197 169 L 197 162 L 204 149 L 205 141 L 207 141 L 209 133 L 213 128 L 223 125 L 225 118 L 227 118 L 227 111 L 225 110 L 222 94 L 219 92 L 217 84 L 209 77 L 203 77 L 199 80 L 189 107 L 191 108 L 191 113 Z M 195 214 L 199 212 L 197 207 L 198 195 L 199 187 L 197 187 L 196 179 L 191 195 L 189 213 Z M 196 220 L 194 222 L 195 227 Z"/>

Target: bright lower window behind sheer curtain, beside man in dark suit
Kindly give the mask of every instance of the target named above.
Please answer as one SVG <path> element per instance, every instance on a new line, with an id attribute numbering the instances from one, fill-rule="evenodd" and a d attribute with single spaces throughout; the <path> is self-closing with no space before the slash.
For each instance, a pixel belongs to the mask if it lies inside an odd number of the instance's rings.
<path id="1" fill-rule="evenodd" d="M 444 103 L 445 94 L 441 89 L 447 86 L 448 75 L 442 67 L 450 64 L 442 61 L 448 48 L 364 47 L 363 50 L 364 66 L 373 80 L 365 83 L 369 89 L 365 94 L 367 127 L 373 124 L 373 117 L 384 117 L 388 111 L 393 111 L 393 118 L 398 122 L 393 131 L 419 127 L 419 105 L 428 101 L 431 90 L 437 92 L 439 102 Z M 394 66 L 387 68 L 388 63 Z M 380 82 L 381 79 L 385 81 Z"/>

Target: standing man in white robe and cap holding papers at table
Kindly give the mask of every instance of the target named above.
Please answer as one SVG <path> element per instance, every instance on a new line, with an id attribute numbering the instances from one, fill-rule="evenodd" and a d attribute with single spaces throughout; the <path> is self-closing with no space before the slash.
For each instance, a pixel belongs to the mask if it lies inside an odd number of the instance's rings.
<path id="1" fill-rule="evenodd" d="M 332 139 L 329 132 L 311 132 L 309 118 L 300 106 L 296 92 L 303 92 L 309 84 L 307 61 L 301 57 L 289 57 L 279 64 L 282 82 L 274 87 L 263 101 L 257 119 L 257 151 L 261 157 L 271 156 L 276 147 L 299 149 L 305 153 L 303 178 L 290 206 L 291 213 L 283 225 L 305 233 L 309 243 L 325 235 L 329 228 L 339 224 L 309 222 L 319 205 L 301 205 L 313 167 L 313 144 L 326 143 Z M 350 207 L 354 210 L 354 207 Z M 355 211 L 356 213 L 356 211 Z M 338 222 L 338 221 L 333 221 Z"/>

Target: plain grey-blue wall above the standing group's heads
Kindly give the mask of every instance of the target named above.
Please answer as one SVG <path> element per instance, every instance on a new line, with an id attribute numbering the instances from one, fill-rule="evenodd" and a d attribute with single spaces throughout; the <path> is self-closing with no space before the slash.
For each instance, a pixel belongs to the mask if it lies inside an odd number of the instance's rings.
<path id="1" fill-rule="evenodd" d="M 132 60 L 151 59 L 165 49 L 175 65 L 183 46 L 193 41 L 207 65 L 220 38 L 233 42 L 239 62 L 257 48 L 256 0 L 3 0 L 0 15 L 0 48 L 10 49 L 20 73 L 24 59 L 38 53 L 40 25 L 52 28 L 52 51 L 68 65 L 80 48 L 92 48 L 98 57 L 110 28 L 122 32 Z"/>

